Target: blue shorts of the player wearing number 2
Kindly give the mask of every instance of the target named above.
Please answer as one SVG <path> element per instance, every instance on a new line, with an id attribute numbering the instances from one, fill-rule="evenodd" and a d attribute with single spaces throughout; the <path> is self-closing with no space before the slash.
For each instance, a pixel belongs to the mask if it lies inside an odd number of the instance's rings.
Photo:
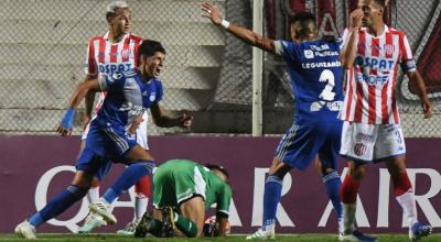
<path id="1" fill-rule="evenodd" d="M 319 154 L 323 166 L 336 169 L 343 122 L 293 124 L 276 151 L 281 162 L 304 170 Z"/>

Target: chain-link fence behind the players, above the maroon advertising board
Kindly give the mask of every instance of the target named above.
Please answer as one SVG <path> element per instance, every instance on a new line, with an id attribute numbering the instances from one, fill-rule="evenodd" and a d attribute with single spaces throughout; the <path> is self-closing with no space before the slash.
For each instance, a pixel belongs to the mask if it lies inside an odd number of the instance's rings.
<path id="1" fill-rule="evenodd" d="M 75 86 L 85 77 L 89 38 L 107 30 L 109 0 L 2 0 L 0 29 L 0 132 L 52 133 Z M 201 18 L 200 0 L 128 0 L 133 33 L 161 41 L 168 52 L 164 107 L 195 117 L 193 133 L 251 132 L 251 47 Z M 251 0 L 212 1 L 230 22 L 251 28 Z M 320 35 L 338 36 L 354 0 L 266 0 L 266 35 L 288 40 L 287 16 L 308 10 L 318 15 Z M 409 37 L 435 116 L 422 120 L 408 80 L 397 86 L 407 136 L 441 136 L 441 36 L 439 0 L 390 0 L 386 21 Z M 295 102 L 281 59 L 265 56 L 263 132 L 282 133 Z M 82 132 L 82 116 L 75 133 Z M 189 132 L 150 125 L 151 134 Z"/>

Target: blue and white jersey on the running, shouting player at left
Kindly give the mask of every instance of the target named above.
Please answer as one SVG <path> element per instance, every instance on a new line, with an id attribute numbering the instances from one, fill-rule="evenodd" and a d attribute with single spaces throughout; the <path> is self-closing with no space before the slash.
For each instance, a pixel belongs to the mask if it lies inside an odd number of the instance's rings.
<path id="1" fill-rule="evenodd" d="M 103 91 L 107 91 L 97 122 L 101 127 L 127 130 L 146 109 L 162 99 L 162 84 L 152 78 L 143 81 L 135 70 L 103 75 L 98 78 Z"/>

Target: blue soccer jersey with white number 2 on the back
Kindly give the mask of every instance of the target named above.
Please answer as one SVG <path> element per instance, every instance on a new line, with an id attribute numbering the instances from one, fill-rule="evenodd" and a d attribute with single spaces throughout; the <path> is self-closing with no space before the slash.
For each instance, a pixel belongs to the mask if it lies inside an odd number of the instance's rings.
<path id="1" fill-rule="evenodd" d="M 343 105 L 341 41 L 300 44 L 276 41 L 276 54 L 283 56 L 295 98 L 295 123 L 335 121 Z"/>

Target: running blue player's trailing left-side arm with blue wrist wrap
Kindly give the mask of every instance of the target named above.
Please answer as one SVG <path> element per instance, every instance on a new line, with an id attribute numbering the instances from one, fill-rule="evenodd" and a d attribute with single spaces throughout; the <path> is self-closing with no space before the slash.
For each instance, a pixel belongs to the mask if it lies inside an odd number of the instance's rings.
<path id="1" fill-rule="evenodd" d="M 60 134 L 62 134 L 62 136 L 68 136 L 72 134 L 72 122 L 75 117 L 75 109 L 83 101 L 86 94 L 88 91 L 98 91 L 99 89 L 98 79 L 83 81 L 76 87 L 71 98 L 69 108 L 66 110 L 66 113 L 64 114 L 62 122 L 56 130 Z"/>

